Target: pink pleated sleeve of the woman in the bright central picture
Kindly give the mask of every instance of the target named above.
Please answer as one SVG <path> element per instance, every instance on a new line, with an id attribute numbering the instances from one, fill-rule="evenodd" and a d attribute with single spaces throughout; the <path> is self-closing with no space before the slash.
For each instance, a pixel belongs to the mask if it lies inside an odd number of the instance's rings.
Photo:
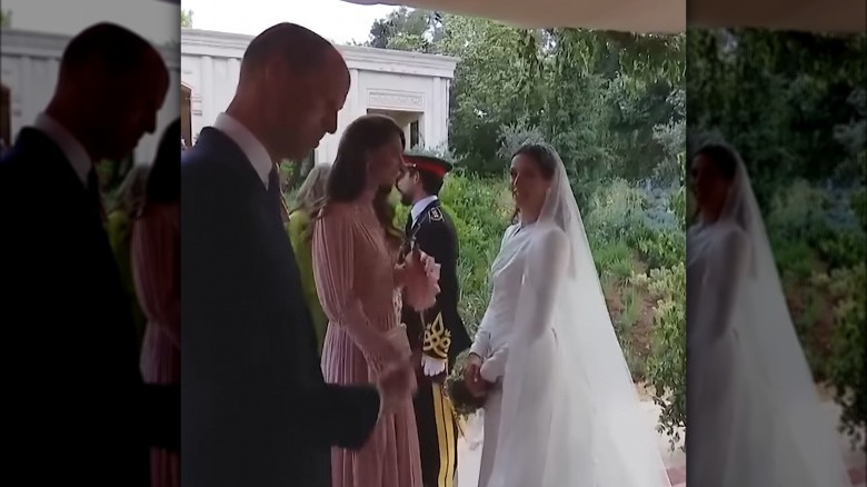
<path id="1" fill-rule="evenodd" d="M 365 314 L 355 289 L 356 221 L 346 208 L 331 208 L 313 229 L 313 275 L 322 309 L 343 327 L 365 355 L 392 356 L 396 350 Z"/>

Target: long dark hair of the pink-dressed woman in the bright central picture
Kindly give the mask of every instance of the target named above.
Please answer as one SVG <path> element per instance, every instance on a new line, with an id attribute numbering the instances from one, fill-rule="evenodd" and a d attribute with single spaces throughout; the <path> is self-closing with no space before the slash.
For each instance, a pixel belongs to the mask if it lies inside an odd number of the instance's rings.
<path id="1" fill-rule="evenodd" d="M 353 120 L 343 131 L 337 157 L 326 185 L 328 202 L 350 202 L 358 199 L 367 187 L 367 156 L 371 150 L 400 138 L 406 148 L 403 129 L 383 115 L 366 115 Z M 401 239 L 402 231 L 395 227 L 395 208 L 389 201 L 391 186 L 382 187 L 373 198 L 373 211 L 390 239 Z"/>

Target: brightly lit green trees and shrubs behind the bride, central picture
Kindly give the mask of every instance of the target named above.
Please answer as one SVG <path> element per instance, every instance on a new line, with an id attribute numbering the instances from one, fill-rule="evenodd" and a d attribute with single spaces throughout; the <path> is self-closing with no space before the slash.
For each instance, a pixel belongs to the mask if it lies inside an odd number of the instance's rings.
<path id="1" fill-rule="evenodd" d="M 460 307 L 470 331 L 514 210 L 511 153 L 545 140 L 567 165 L 634 378 L 662 406 L 660 426 L 674 440 L 686 418 L 685 39 L 515 29 L 397 9 L 368 41 L 460 58 L 449 147 L 430 149 L 457 167 L 441 198 L 460 235 Z"/>

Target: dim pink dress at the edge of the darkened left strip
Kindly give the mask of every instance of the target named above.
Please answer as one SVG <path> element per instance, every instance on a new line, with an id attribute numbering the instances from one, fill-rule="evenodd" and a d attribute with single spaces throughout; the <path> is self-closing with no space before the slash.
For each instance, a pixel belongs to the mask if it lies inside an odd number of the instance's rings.
<path id="1" fill-rule="evenodd" d="M 177 205 L 155 205 L 132 231 L 136 292 L 148 325 L 141 375 L 148 384 L 180 381 L 180 215 Z M 151 486 L 180 487 L 180 457 L 151 450 Z"/>

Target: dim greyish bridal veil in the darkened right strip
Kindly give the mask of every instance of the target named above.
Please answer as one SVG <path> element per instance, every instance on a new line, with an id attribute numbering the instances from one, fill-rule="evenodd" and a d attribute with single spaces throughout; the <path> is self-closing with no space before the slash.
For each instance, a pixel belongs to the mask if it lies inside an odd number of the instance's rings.
<path id="1" fill-rule="evenodd" d="M 849 486 L 837 434 L 823 410 L 795 332 L 746 166 L 734 148 L 727 149 L 737 167 L 718 222 L 730 221 L 743 229 L 749 251 L 746 276 L 731 284 L 740 288 L 730 314 L 740 364 L 733 364 L 730 370 L 743 377 L 735 381 L 739 386 L 728 447 L 730 460 L 717 467 L 721 471 L 708 474 L 724 477 L 720 485 L 733 487 Z M 712 319 L 701 309 L 708 308 L 702 302 L 717 299 L 720 290 L 711 288 L 705 286 L 708 296 L 689 297 L 696 299 L 699 321 Z M 698 451 L 690 447 L 691 459 L 700 467 L 702 460 L 694 454 Z"/>

